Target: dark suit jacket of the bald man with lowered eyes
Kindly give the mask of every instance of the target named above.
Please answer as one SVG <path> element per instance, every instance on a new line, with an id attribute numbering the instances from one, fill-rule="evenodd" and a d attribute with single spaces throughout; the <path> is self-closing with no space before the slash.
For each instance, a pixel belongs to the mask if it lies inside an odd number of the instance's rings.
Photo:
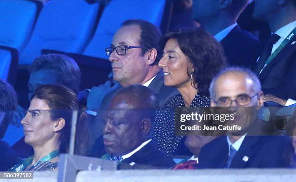
<path id="1" fill-rule="evenodd" d="M 133 165 L 130 165 L 130 164 Z M 152 140 L 131 157 L 124 159 L 118 169 L 153 169 L 153 168 L 170 168 L 176 163 L 158 150 L 155 142 Z"/>

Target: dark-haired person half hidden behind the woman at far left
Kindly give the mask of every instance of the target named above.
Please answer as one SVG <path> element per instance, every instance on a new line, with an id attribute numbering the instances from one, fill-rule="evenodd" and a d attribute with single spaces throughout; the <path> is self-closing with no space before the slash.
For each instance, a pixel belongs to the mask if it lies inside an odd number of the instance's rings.
<path id="1" fill-rule="evenodd" d="M 76 94 L 79 91 L 81 72 L 74 59 L 69 56 L 59 54 L 38 56 L 30 64 L 29 72 L 29 100 L 31 100 L 35 90 L 44 84 L 64 85 Z M 20 122 L 25 115 L 25 110 L 18 107 L 17 114 L 15 120 L 19 120 Z M 12 144 L 14 144 L 13 149 L 18 156 L 28 157 L 33 154 L 32 148 L 24 143 L 22 127 L 9 126 L 8 131 L 9 133 L 5 136 L 5 140 L 9 140 L 10 142 L 12 140 L 17 141 Z"/>

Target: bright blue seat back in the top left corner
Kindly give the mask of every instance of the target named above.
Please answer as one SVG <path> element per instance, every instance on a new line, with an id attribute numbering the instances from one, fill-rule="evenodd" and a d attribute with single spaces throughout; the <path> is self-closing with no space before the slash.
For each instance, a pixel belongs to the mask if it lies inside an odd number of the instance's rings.
<path id="1" fill-rule="evenodd" d="M 40 1 L 0 0 L 0 45 L 21 50 L 41 7 Z"/>

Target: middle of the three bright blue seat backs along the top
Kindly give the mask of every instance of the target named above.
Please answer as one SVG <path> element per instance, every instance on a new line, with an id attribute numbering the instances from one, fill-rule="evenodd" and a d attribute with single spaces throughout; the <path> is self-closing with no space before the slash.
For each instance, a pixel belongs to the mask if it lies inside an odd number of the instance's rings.
<path id="1" fill-rule="evenodd" d="M 99 3 L 86 0 L 50 0 L 36 22 L 32 36 L 19 58 L 29 65 L 42 49 L 81 53 L 93 35 Z"/>

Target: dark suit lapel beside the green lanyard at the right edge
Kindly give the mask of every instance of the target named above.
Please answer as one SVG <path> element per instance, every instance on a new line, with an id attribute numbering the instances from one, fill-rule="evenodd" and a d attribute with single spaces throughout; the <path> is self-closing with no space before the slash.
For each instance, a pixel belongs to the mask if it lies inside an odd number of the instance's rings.
<path id="1" fill-rule="evenodd" d="M 294 36 L 293 40 L 288 42 L 288 44 L 281 50 L 281 52 L 266 66 L 266 68 L 259 75 L 260 80 L 264 79 L 266 75 L 269 73 L 269 70 L 277 63 L 284 61 L 287 57 L 289 57 L 289 53 L 292 53 L 293 49 L 296 48 L 296 43 L 292 44 L 296 40 L 296 36 Z"/>

